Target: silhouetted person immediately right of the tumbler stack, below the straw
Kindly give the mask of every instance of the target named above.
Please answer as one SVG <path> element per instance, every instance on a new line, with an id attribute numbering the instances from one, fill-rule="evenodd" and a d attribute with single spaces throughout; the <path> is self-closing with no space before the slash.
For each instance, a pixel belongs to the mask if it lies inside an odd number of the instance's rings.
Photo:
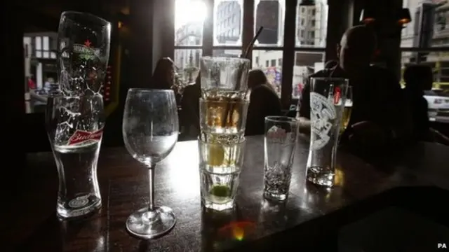
<path id="1" fill-rule="evenodd" d="M 264 134 L 265 116 L 281 116 L 281 101 L 260 69 L 248 74 L 250 104 L 246 118 L 246 135 Z"/>

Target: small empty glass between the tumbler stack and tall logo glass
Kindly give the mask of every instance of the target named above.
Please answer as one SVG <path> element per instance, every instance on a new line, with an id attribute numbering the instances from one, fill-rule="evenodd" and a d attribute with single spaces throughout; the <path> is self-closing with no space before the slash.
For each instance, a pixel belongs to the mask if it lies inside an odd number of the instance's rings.
<path id="1" fill-rule="evenodd" d="M 264 197 L 286 200 L 290 188 L 298 121 L 287 116 L 267 116 L 264 137 Z"/>

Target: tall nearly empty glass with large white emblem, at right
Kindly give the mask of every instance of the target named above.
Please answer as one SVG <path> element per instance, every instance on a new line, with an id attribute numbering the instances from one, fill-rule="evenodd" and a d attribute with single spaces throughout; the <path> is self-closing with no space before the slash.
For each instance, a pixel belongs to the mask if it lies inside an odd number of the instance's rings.
<path id="1" fill-rule="evenodd" d="M 319 186 L 334 185 L 337 142 L 348 83 L 345 78 L 311 78 L 307 180 Z"/>

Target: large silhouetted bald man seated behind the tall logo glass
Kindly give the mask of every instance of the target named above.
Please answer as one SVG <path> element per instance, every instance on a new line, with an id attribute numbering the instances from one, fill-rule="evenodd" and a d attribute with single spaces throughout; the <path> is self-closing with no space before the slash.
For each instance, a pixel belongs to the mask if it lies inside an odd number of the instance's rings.
<path id="1" fill-rule="evenodd" d="M 401 99 L 401 86 L 393 73 L 370 64 L 377 38 L 369 27 L 348 29 L 337 45 L 339 62 L 311 77 L 348 78 L 353 88 L 353 110 L 342 143 L 363 155 L 373 155 L 410 135 L 409 113 Z M 310 130 L 310 79 L 302 90 L 302 131 Z"/>

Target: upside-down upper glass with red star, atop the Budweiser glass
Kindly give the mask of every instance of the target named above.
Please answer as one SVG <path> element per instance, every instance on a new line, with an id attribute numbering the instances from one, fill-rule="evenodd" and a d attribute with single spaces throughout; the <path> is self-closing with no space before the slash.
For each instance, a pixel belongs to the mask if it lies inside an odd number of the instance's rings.
<path id="1" fill-rule="evenodd" d="M 88 13 L 65 11 L 58 28 L 58 71 L 65 95 L 98 94 L 105 80 L 111 24 Z"/>

